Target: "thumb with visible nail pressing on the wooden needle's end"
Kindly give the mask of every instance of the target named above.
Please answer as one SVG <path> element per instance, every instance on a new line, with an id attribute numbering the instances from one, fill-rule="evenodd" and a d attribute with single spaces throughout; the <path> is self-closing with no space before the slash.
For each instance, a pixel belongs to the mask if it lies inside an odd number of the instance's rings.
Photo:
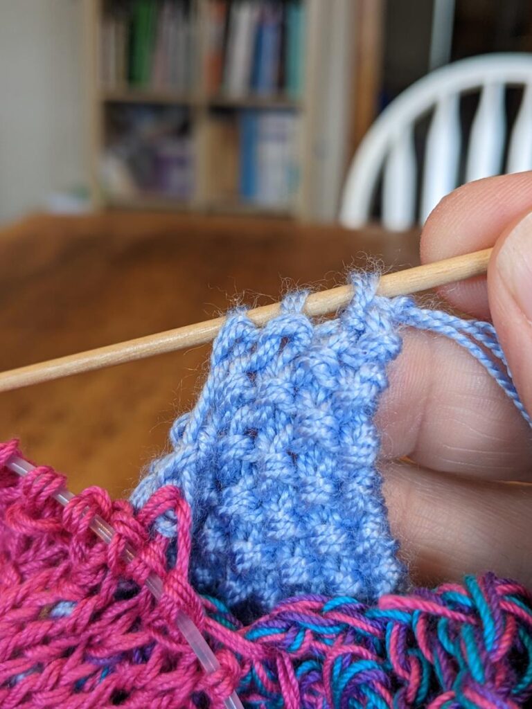
<path id="1" fill-rule="evenodd" d="M 488 297 L 514 384 L 532 415 L 532 212 L 497 240 L 489 262 Z"/>

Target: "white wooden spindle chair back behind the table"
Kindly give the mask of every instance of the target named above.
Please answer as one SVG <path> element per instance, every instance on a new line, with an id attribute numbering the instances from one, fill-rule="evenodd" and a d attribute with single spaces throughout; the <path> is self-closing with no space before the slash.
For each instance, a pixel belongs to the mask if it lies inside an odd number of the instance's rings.
<path id="1" fill-rule="evenodd" d="M 523 98 L 506 135 L 505 87 L 516 85 L 523 86 Z M 466 150 L 460 130 L 460 94 L 479 90 L 462 182 L 532 169 L 532 55 L 461 60 L 409 86 L 368 130 L 348 172 L 340 222 L 359 228 L 370 220 L 382 174 L 383 225 L 402 230 L 423 223 L 440 199 L 458 186 L 460 155 Z M 414 125 L 431 111 L 419 190 Z"/>

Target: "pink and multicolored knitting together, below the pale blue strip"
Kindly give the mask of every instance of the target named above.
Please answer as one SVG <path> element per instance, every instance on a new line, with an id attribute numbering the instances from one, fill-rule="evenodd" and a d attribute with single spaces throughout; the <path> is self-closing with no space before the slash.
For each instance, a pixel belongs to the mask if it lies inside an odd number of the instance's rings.
<path id="1" fill-rule="evenodd" d="M 91 488 L 66 508 L 49 468 L 25 479 L 0 447 L 0 706 L 2 709 L 221 709 L 238 689 L 264 709 L 518 709 L 532 698 L 532 596 L 486 574 L 409 596 L 300 596 L 243 627 L 187 578 L 189 506 L 174 486 L 142 510 Z M 117 530 L 111 545 L 92 515 Z M 155 520 L 171 513 L 172 541 Z M 140 559 L 126 564 L 124 545 Z M 159 603 L 143 585 L 162 576 Z M 174 618 L 184 610 L 216 652 L 201 670 Z M 527 704 L 528 703 L 528 704 Z"/>

